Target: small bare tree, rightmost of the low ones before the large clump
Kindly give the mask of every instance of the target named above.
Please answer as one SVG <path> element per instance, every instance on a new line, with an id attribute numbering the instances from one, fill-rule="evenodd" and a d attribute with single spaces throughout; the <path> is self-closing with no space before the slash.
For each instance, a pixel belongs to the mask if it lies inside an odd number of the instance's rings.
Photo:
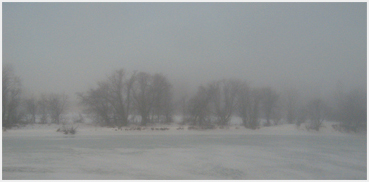
<path id="1" fill-rule="evenodd" d="M 53 123 L 59 124 L 62 114 L 67 109 L 68 96 L 65 94 L 50 94 L 48 97 L 48 107 Z"/>

